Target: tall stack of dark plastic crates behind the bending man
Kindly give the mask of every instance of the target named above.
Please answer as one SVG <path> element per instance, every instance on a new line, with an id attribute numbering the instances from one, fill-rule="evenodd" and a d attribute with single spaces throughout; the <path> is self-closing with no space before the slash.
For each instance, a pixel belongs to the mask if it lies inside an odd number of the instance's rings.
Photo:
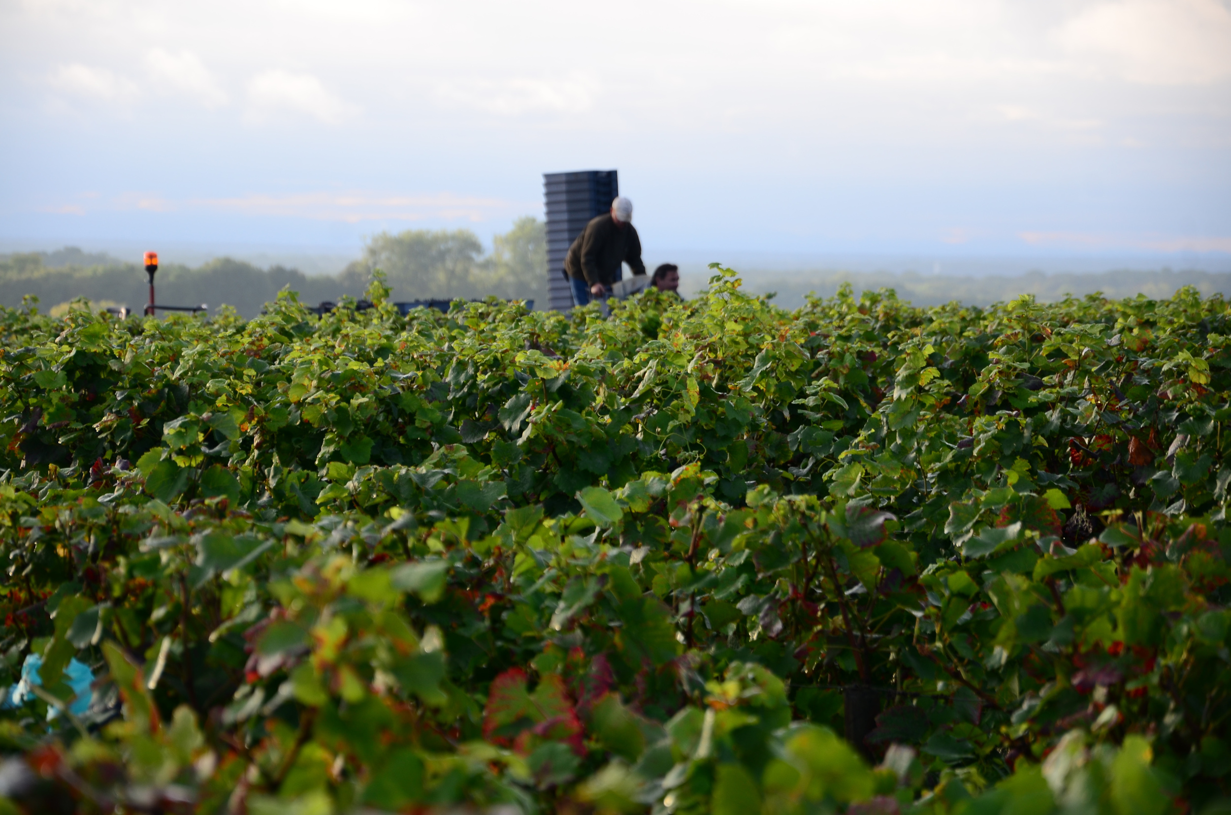
<path id="1" fill-rule="evenodd" d="M 572 292 L 564 272 L 569 246 L 591 218 L 612 208 L 612 199 L 618 195 L 619 180 L 614 170 L 543 174 L 549 309 L 567 311 L 572 308 Z"/>

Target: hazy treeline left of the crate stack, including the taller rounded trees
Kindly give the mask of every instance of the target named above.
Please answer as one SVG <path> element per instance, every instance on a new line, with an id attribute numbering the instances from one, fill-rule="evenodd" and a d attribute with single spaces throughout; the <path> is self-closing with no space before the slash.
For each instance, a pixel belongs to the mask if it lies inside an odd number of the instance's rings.
<path id="1" fill-rule="evenodd" d="M 534 299 L 538 308 L 547 304 L 547 236 L 543 223 L 534 218 L 522 218 L 508 233 L 496 235 L 487 256 L 479 238 L 467 229 L 380 233 L 367 243 L 359 260 L 336 276 L 308 276 L 283 266 L 262 270 L 222 257 L 196 268 L 165 263 L 155 287 L 162 305 L 207 303 L 213 311 L 227 304 L 251 318 L 283 288 L 298 292 L 309 304 L 358 298 L 374 268 L 385 272 L 398 300 L 496 295 Z M 30 294 L 38 298 L 42 311 L 82 297 L 98 305 L 128 305 L 139 311 L 149 300 L 149 283 L 137 263 L 75 247 L 0 256 L 0 304 L 21 305 Z"/>

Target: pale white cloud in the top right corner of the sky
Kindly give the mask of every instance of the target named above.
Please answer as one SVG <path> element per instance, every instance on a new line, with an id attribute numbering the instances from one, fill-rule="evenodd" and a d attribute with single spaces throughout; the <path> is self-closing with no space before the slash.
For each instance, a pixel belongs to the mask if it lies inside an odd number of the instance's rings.
<path id="1" fill-rule="evenodd" d="M 1195 85 L 1231 76 L 1231 10 L 1220 0 L 1101 2 L 1055 37 L 1135 82 Z"/>

